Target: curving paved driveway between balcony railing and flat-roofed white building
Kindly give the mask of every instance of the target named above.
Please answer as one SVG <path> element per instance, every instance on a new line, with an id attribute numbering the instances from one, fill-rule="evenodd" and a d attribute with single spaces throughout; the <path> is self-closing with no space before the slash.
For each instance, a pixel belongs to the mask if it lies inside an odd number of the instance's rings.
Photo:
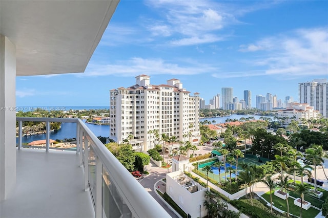
<path id="1" fill-rule="evenodd" d="M 178 218 L 178 216 L 162 201 L 161 198 L 155 193 L 154 185 L 158 180 L 166 178 L 167 169 L 156 167 L 154 165 L 148 165 L 147 169 L 149 175 L 140 180 L 140 184 L 145 187 L 145 189 L 152 195 L 152 197 L 173 217 Z M 161 190 L 165 190 L 165 187 L 161 184 Z"/>

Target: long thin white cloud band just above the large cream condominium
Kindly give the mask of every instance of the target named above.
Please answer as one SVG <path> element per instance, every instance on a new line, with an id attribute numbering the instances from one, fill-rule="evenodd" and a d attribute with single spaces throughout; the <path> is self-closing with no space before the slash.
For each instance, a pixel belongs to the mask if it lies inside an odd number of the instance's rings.
<path id="1" fill-rule="evenodd" d="M 185 60 L 185 64 L 170 63 L 163 59 L 144 59 L 134 57 L 129 60 L 119 61 L 115 64 L 89 64 L 84 74 L 78 76 L 136 76 L 147 75 L 194 75 L 215 72 L 216 67 L 200 64 L 197 61 Z"/>

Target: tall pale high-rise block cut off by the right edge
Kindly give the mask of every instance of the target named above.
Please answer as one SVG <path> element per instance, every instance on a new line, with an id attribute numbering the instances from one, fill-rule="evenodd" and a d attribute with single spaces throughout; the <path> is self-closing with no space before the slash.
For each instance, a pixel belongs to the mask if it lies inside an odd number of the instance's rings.
<path id="1" fill-rule="evenodd" d="M 298 83 L 299 103 L 308 103 L 323 117 L 328 117 L 327 79 L 314 79 L 312 82 Z"/>

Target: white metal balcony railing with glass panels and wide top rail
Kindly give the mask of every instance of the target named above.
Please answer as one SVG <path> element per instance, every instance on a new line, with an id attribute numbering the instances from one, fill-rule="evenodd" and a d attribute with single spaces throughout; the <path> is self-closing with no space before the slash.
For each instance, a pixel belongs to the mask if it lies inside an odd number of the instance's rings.
<path id="1" fill-rule="evenodd" d="M 24 121 L 46 122 L 46 151 L 50 148 L 50 122 L 76 123 L 76 154 L 85 172 L 95 217 L 171 217 L 114 157 L 86 124 L 77 118 L 17 117 L 18 149 L 22 148 Z"/>

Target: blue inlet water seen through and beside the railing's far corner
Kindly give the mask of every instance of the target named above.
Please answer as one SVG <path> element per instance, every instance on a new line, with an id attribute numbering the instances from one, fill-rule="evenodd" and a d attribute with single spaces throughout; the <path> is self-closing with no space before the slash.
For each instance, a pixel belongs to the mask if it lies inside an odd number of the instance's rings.
<path id="1" fill-rule="evenodd" d="M 109 125 L 94 125 L 86 123 L 95 136 L 109 137 Z M 76 123 L 61 123 L 61 128 L 55 132 L 50 133 L 50 139 L 71 139 L 76 138 Z M 23 143 L 30 143 L 35 140 L 46 139 L 46 134 L 34 135 L 34 136 L 24 136 L 22 137 Z M 18 144 L 18 138 L 16 138 L 16 143 Z"/>

